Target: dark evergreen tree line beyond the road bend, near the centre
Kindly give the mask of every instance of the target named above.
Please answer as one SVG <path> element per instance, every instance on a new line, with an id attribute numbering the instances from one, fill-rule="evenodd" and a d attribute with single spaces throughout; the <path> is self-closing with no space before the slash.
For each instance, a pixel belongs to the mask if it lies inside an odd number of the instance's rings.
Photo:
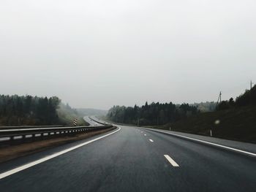
<path id="1" fill-rule="evenodd" d="M 144 104 L 142 107 L 114 106 L 108 111 L 107 118 L 116 123 L 139 124 L 140 126 L 156 126 L 187 118 L 199 112 L 197 107 L 189 104 Z"/>

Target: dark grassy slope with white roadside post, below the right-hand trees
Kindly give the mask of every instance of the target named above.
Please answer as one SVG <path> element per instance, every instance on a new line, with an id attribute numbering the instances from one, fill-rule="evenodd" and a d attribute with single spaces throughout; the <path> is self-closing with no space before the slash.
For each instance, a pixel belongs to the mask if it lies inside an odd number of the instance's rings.
<path id="1" fill-rule="evenodd" d="M 215 120 L 220 120 L 215 125 Z M 209 136 L 212 129 L 214 137 L 256 143 L 256 106 L 205 112 L 199 115 L 169 123 L 161 128 Z"/>

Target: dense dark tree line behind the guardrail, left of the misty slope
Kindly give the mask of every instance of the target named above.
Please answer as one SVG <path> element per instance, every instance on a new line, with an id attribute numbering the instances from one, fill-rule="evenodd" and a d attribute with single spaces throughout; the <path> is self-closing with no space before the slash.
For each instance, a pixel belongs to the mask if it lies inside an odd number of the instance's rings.
<path id="1" fill-rule="evenodd" d="M 51 125 L 59 123 L 56 97 L 0 95 L 0 124 L 3 126 Z"/>

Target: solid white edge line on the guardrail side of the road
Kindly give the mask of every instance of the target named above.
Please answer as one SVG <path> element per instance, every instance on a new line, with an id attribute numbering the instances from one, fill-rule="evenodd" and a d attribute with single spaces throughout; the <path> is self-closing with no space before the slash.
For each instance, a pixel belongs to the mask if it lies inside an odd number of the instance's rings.
<path id="1" fill-rule="evenodd" d="M 40 158 L 40 159 L 38 159 L 37 161 L 32 161 L 32 162 L 30 162 L 29 164 L 24 164 L 23 166 L 18 166 L 17 168 L 11 169 L 10 171 L 3 172 L 3 173 L 0 174 L 0 180 L 3 179 L 4 177 L 10 176 L 11 174 L 15 174 L 15 173 L 20 172 L 20 171 L 22 171 L 22 170 L 24 170 L 24 169 L 28 169 L 28 168 L 31 167 L 31 166 L 35 166 L 35 165 L 37 165 L 37 164 L 41 164 L 41 163 L 44 162 L 44 161 L 48 161 L 48 160 L 51 159 L 51 158 L 55 158 L 55 157 L 57 157 L 57 156 L 59 156 L 59 155 L 62 155 L 62 154 L 64 154 L 64 153 L 68 153 L 69 151 L 75 150 L 75 149 L 77 149 L 78 147 L 82 147 L 82 146 L 84 146 L 84 145 L 88 145 L 88 144 L 91 143 L 91 142 L 95 142 L 95 141 L 97 141 L 97 140 L 99 140 L 99 139 L 102 139 L 102 138 L 104 138 L 104 137 L 108 137 L 108 136 L 110 136 L 111 134 L 115 134 L 116 132 L 120 131 L 120 129 L 121 129 L 121 128 L 118 127 L 118 130 L 113 131 L 113 132 L 111 132 L 110 134 L 105 134 L 105 135 L 103 135 L 102 137 L 97 137 L 96 139 L 92 139 L 92 140 L 90 140 L 90 141 L 88 141 L 88 142 L 83 142 L 83 143 L 81 143 L 81 144 L 79 144 L 79 145 L 76 145 L 76 146 L 74 146 L 74 147 L 70 147 L 70 148 L 68 148 L 67 150 L 61 150 L 61 151 L 58 152 L 58 153 L 53 153 L 52 155 L 48 155 L 48 156 L 46 156 L 46 157 L 44 157 L 44 158 Z"/>

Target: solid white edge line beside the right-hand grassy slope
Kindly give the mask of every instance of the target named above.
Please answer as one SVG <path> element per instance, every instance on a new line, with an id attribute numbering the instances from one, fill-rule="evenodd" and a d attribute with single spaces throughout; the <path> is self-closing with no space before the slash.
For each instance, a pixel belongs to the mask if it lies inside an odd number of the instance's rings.
<path id="1" fill-rule="evenodd" d="M 150 128 L 146 128 L 146 129 L 151 130 Z M 170 135 L 174 135 L 174 136 L 185 138 L 185 139 L 190 139 L 190 140 L 197 141 L 197 142 L 203 142 L 203 143 L 206 143 L 208 145 L 214 145 L 214 146 L 217 146 L 217 147 L 225 148 L 227 150 L 233 150 L 233 151 L 236 151 L 236 152 L 239 152 L 239 153 L 244 153 L 246 155 L 252 155 L 252 156 L 256 157 L 255 153 L 250 153 L 250 152 L 245 151 L 245 150 L 238 150 L 238 149 L 235 149 L 233 147 L 227 147 L 225 145 L 219 145 L 219 144 L 216 144 L 216 143 L 213 143 L 213 142 L 206 142 L 206 141 L 203 141 L 203 140 L 200 140 L 200 139 L 194 139 L 194 138 L 191 138 L 191 137 L 186 137 L 186 136 L 182 136 L 182 135 L 179 135 L 179 134 L 168 133 L 168 132 L 165 132 L 165 131 L 159 131 L 159 130 L 151 130 L 151 131 L 158 131 L 158 132 L 162 132 L 162 133 L 165 133 L 165 134 L 170 134 Z"/>

